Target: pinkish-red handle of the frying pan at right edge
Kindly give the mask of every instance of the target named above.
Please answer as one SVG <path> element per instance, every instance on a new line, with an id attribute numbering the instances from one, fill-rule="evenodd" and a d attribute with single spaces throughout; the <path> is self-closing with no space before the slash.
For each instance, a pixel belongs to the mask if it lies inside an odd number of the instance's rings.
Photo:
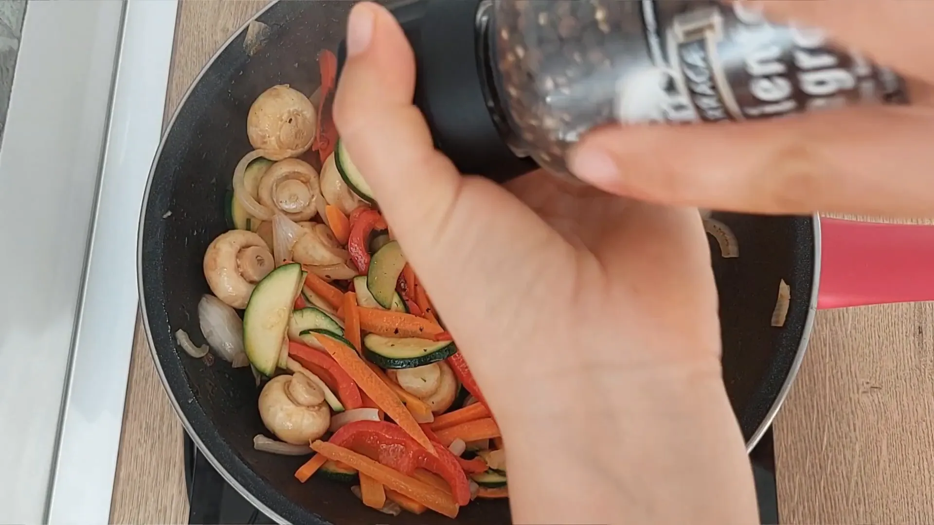
<path id="1" fill-rule="evenodd" d="M 818 308 L 934 301 L 934 226 L 820 222 Z"/>

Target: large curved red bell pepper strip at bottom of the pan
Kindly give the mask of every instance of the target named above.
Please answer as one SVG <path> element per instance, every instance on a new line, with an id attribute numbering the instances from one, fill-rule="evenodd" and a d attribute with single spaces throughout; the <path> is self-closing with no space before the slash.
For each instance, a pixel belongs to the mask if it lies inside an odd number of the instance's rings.
<path id="1" fill-rule="evenodd" d="M 423 468 L 445 479 L 460 505 L 470 503 L 470 483 L 460 462 L 451 451 L 432 442 L 435 456 L 419 446 L 401 427 L 388 421 L 354 421 L 335 432 L 330 443 L 347 447 L 393 468 L 412 475 Z"/>

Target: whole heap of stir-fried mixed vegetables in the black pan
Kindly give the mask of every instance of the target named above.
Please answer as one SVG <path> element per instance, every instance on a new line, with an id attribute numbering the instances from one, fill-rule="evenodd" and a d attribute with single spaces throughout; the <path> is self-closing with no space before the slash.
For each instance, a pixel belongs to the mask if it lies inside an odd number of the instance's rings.
<path id="1" fill-rule="evenodd" d="M 262 387 L 256 406 L 276 439 L 256 435 L 254 447 L 317 451 L 298 481 L 319 473 L 381 512 L 455 517 L 482 490 L 505 487 L 487 461 L 501 452 L 490 449 L 499 428 L 485 403 L 449 411 L 461 385 L 474 399 L 482 392 L 339 141 L 336 57 L 325 51 L 318 63 L 312 98 L 281 85 L 251 107 L 254 150 L 227 203 L 233 230 L 205 252 L 213 295 L 199 304 L 201 330 Z M 213 359 L 186 333 L 177 339 Z"/>

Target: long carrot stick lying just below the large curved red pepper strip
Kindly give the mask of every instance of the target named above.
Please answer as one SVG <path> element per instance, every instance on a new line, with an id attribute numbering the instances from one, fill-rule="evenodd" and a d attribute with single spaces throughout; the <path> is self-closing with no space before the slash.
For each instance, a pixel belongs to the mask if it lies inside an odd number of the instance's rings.
<path id="1" fill-rule="evenodd" d="M 318 452 L 318 454 L 330 460 L 345 463 L 350 468 L 357 469 L 361 475 L 369 475 L 386 486 L 389 490 L 395 490 L 403 496 L 412 498 L 419 504 L 423 504 L 433 511 L 448 518 L 457 518 L 458 516 L 459 507 L 454 501 L 454 496 L 446 493 L 444 490 L 432 487 L 412 476 L 403 475 L 362 454 L 358 454 L 345 447 L 338 447 L 333 443 L 325 443 L 318 440 L 312 443 L 311 447 Z"/>

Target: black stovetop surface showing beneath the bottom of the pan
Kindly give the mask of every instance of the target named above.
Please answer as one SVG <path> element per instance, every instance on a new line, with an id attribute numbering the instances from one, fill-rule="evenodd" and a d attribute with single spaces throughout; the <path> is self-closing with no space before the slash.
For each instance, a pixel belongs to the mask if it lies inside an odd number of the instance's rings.
<path id="1" fill-rule="evenodd" d="M 756 477 L 759 518 L 764 525 L 778 524 L 778 498 L 775 490 L 775 455 L 771 431 L 753 449 L 753 474 Z M 205 456 L 185 436 L 185 483 L 188 486 L 189 523 L 276 523 L 247 503 L 224 482 Z"/>

